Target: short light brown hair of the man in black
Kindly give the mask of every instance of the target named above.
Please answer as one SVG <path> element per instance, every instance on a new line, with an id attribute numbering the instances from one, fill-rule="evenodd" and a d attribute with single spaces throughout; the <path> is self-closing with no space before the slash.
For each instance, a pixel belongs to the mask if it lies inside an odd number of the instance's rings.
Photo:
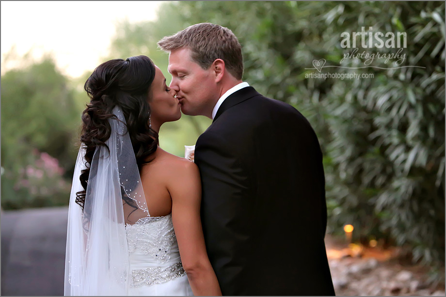
<path id="1" fill-rule="evenodd" d="M 192 60 L 203 69 L 208 69 L 216 59 L 222 59 L 233 77 L 241 79 L 243 76 L 241 46 L 228 28 L 211 23 L 195 24 L 172 36 L 163 37 L 158 46 L 166 52 L 190 48 Z"/>

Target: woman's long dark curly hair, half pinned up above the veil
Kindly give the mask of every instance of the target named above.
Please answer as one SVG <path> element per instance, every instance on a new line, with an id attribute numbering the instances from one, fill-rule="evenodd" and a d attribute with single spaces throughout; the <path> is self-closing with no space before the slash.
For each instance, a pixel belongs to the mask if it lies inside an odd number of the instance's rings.
<path id="1" fill-rule="evenodd" d="M 151 161 L 149 156 L 157 150 L 158 133 L 149 127 L 151 110 L 148 100 L 154 78 L 155 65 L 152 60 L 146 56 L 137 56 L 102 63 L 85 82 L 84 89 L 90 97 L 90 103 L 82 112 L 80 141 L 86 149 L 86 169 L 80 174 L 84 190 L 76 193 L 76 203 L 82 207 L 82 211 L 96 146 L 103 145 L 109 149 L 105 143 L 112 129 L 108 119 L 116 119 L 112 112 L 116 105 L 124 113 L 140 172 Z M 131 201 L 127 203 L 131 204 Z"/>

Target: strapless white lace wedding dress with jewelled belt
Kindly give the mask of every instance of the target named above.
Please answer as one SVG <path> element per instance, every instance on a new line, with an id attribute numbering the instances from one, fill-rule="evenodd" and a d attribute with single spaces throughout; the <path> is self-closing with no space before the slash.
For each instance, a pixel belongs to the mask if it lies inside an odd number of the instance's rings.
<path id="1" fill-rule="evenodd" d="M 181 265 L 172 215 L 126 225 L 130 263 L 129 296 L 193 296 Z"/>

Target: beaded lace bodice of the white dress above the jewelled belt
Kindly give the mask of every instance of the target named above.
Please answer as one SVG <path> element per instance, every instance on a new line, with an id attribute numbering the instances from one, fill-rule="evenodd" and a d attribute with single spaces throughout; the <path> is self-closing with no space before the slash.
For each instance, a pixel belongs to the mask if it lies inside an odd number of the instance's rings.
<path id="1" fill-rule="evenodd" d="M 172 215 L 146 217 L 126 226 L 129 255 L 139 250 L 151 255 L 158 264 L 167 263 L 170 250 L 176 244 Z"/>

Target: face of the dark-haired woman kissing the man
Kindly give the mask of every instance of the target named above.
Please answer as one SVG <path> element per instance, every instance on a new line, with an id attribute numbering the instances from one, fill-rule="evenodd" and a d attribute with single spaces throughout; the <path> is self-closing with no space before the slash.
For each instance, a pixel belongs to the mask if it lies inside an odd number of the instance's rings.
<path id="1" fill-rule="evenodd" d="M 181 117 L 181 104 L 175 97 L 176 92 L 166 85 L 166 78 L 157 66 L 155 66 L 155 78 L 151 91 L 149 104 L 152 109 L 152 124 L 156 122 L 161 125 L 165 122 L 176 121 Z"/>

